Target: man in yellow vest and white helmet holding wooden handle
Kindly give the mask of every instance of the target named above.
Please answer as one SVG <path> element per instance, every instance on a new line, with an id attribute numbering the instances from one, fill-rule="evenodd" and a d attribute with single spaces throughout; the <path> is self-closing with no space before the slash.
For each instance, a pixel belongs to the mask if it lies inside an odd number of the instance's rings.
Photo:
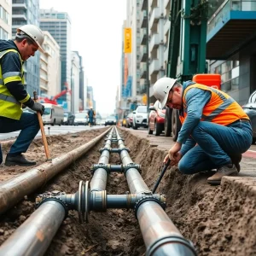
<path id="1" fill-rule="evenodd" d="M 0 132 L 20 131 L 6 156 L 6 166 L 32 166 L 35 161 L 26 160 L 25 153 L 39 131 L 37 113 L 22 112 L 21 105 L 41 114 L 44 106 L 34 102 L 24 88 L 23 61 L 44 51 L 44 34 L 33 25 L 20 26 L 15 40 L 0 40 Z M 3 154 L 0 148 L 0 161 Z"/>

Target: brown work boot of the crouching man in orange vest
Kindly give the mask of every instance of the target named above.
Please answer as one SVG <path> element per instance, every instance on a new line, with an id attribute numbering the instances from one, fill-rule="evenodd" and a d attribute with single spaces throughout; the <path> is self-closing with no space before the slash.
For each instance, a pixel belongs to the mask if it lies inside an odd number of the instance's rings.
<path id="1" fill-rule="evenodd" d="M 238 172 L 237 172 L 236 166 L 233 164 L 221 166 L 217 169 L 217 172 L 215 174 L 207 178 L 207 183 L 213 184 L 213 185 L 219 185 L 222 177 L 234 176 L 234 175 L 237 175 L 237 173 Z"/>

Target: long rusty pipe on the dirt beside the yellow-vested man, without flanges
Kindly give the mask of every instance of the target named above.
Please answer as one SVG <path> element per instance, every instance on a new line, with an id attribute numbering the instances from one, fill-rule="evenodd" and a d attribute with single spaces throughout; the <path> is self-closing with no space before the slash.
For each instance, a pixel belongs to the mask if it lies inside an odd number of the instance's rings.
<path id="1" fill-rule="evenodd" d="M 93 148 L 110 129 L 102 132 L 100 136 L 89 143 L 85 143 L 83 146 L 53 159 L 52 162 L 46 162 L 17 177 L 0 183 L 0 214 L 15 206 L 25 195 L 31 194 L 32 191 L 38 189 L 38 187 L 47 183 L 50 178 L 67 168 L 73 161 L 79 159 L 90 148 Z"/>

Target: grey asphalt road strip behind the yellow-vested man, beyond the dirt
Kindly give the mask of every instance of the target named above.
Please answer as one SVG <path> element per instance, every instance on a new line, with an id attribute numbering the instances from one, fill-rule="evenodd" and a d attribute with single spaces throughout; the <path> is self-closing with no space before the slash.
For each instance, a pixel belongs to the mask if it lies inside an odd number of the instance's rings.
<path id="1" fill-rule="evenodd" d="M 85 130 L 91 130 L 91 129 L 98 129 L 98 128 L 103 128 L 105 127 L 104 125 L 96 125 L 96 126 L 84 126 L 84 125 L 44 125 L 44 131 L 46 135 L 57 135 L 57 134 L 65 134 L 68 132 L 78 132 L 78 131 L 85 131 Z M 9 133 L 1 133 L 0 134 L 0 141 L 7 140 L 7 139 L 13 139 L 15 137 L 18 137 L 20 134 L 20 131 L 14 131 L 14 132 L 9 132 Z M 38 132 L 36 137 L 41 137 L 41 131 Z"/>

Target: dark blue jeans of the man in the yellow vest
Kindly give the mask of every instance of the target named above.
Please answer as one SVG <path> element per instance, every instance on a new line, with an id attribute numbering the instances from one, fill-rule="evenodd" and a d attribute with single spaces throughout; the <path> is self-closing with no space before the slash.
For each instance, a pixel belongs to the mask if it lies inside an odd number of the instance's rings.
<path id="1" fill-rule="evenodd" d="M 24 112 L 20 120 L 0 118 L 0 133 L 20 131 L 15 143 L 11 146 L 9 154 L 25 153 L 32 140 L 38 134 L 40 129 L 37 113 Z M 0 144 L 0 163 L 3 162 L 3 154 Z"/>

